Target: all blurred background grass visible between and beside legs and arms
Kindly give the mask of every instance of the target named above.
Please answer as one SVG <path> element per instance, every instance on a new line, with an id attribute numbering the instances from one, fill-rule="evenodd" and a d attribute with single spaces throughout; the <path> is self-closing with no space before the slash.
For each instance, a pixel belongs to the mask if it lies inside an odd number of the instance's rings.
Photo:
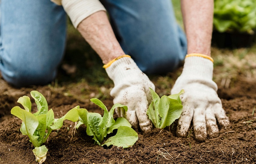
<path id="1" fill-rule="evenodd" d="M 172 4 L 177 22 L 183 27 L 180 0 L 172 0 Z M 101 59 L 72 26 L 70 20 L 68 20 L 67 32 L 66 55 L 62 65 L 75 66 L 76 72 L 67 74 L 63 68 L 60 68 L 57 78 L 60 87 L 66 85 L 67 88 L 72 89 L 72 86 L 77 87 L 84 83 L 98 88 L 113 87 L 113 82 L 102 68 Z M 211 51 L 214 59 L 214 81 L 218 84 L 230 87 L 229 83 L 235 81 L 238 76 L 256 79 L 256 44 L 250 48 L 232 50 L 212 47 Z M 156 92 L 160 96 L 170 94 L 171 87 L 181 74 L 181 70 L 182 67 L 165 76 L 149 76 L 156 84 Z"/>

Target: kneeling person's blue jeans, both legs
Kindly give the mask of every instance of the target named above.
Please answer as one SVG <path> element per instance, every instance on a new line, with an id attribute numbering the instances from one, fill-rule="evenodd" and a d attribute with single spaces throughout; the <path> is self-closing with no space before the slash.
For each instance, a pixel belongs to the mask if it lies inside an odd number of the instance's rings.
<path id="1" fill-rule="evenodd" d="M 14 3 L 15 2 L 15 3 Z M 170 0 L 102 0 L 126 54 L 148 74 L 174 70 L 187 51 Z M 57 74 L 66 43 L 66 14 L 50 0 L 0 0 L 0 70 L 21 87 Z"/>

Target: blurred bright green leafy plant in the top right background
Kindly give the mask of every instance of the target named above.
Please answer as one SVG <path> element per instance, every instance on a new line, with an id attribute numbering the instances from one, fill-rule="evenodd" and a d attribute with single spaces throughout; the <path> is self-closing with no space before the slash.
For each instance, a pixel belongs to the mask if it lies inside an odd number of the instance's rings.
<path id="1" fill-rule="evenodd" d="M 256 1 L 215 0 L 213 25 L 219 32 L 253 34 L 256 29 Z"/>

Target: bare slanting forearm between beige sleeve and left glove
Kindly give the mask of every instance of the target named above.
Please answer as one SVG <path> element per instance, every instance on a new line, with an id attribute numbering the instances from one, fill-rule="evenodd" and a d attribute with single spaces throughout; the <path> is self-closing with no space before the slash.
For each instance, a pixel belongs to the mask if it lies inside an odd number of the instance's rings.
<path id="1" fill-rule="evenodd" d="M 98 53 L 104 64 L 125 54 L 114 35 L 106 12 L 93 13 L 84 19 L 77 29 Z"/>

